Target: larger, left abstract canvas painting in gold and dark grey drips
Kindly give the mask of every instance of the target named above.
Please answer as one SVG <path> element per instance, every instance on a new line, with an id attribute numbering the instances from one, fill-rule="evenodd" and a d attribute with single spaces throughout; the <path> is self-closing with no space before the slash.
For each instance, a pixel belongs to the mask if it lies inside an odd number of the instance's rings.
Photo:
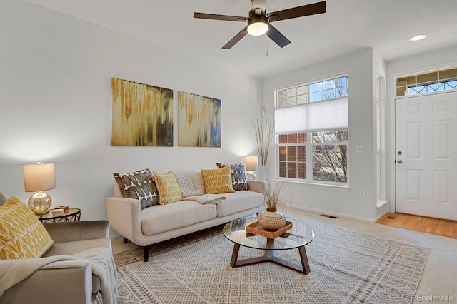
<path id="1" fill-rule="evenodd" d="M 173 90 L 111 78 L 112 146 L 173 146 Z"/>

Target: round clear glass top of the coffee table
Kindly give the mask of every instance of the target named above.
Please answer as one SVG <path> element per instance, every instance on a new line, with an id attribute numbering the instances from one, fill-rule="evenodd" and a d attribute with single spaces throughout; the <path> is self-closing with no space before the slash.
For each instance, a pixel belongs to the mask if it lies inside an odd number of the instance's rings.
<path id="1" fill-rule="evenodd" d="M 313 229 L 298 222 L 293 222 L 290 230 L 274 239 L 246 233 L 246 226 L 256 221 L 255 217 L 231 221 L 224 226 L 224 236 L 238 245 L 264 250 L 299 248 L 308 245 L 314 239 Z"/>

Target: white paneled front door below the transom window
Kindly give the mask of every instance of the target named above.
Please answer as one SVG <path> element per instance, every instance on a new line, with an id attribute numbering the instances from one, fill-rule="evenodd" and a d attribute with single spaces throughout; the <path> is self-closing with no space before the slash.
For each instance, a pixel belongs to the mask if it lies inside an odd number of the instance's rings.
<path id="1" fill-rule="evenodd" d="M 395 103 L 396 212 L 457 220 L 457 92 Z"/>

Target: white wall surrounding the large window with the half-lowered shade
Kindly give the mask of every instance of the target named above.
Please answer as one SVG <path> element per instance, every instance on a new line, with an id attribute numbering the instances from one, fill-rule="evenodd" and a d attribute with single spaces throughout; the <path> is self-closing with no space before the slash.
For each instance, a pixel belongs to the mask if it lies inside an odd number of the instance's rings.
<path id="1" fill-rule="evenodd" d="M 285 183 L 283 192 L 293 206 L 364 221 L 373 221 L 376 217 L 373 64 L 379 66 L 377 63 L 378 57 L 373 60 L 373 49 L 366 49 L 263 81 L 263 103 L 267 115 L 273 117 L 275 89 L 348 73 L 350 188 Z M 365 146 L 365 153 L 356 153 L 356 146 L 359 145 Z M 275 174 L 274 158 L 271 157 L 268 160 L 271 183 Z M 360 198 L 361 190 L 366 192 L 365 198 Z"/>

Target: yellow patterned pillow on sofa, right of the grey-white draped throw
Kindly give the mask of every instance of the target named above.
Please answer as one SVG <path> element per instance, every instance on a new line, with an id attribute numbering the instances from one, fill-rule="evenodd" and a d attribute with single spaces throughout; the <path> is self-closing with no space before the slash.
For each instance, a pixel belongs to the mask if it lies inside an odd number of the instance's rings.
<path id="1" fill-rule="evenodd" d="M 231 185 L 230 167 L 201 169 L 206 194 L 235 192 Z"/>

